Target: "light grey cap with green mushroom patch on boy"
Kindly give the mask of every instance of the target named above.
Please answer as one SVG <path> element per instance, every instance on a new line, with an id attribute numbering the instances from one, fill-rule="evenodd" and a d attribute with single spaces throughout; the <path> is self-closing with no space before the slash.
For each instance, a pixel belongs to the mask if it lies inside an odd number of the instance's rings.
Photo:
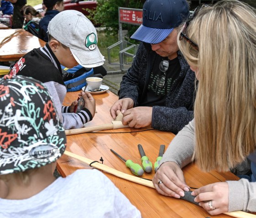
<path id="1" fill-rule="evenodd" d="M 48 33 L 68 46 L 75 60 L 84 67 L 104 64 L 104 56 L 98 49 L 98 37 L 94 25 L 77 10 L 64 10 L 49 22 Z"/>

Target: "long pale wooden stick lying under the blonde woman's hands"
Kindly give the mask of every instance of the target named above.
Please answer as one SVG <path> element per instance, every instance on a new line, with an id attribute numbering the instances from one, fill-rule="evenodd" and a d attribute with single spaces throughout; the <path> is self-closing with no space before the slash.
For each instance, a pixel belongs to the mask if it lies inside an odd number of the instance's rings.
<path id="1" fill-rule="evenodd" d="M 93 162 L 92 160 L 90 160 L 86 157 L 82 157 L 80 155 L 74 154 L 74 153 L 69 152 L 69 151 L 65 151 L 64 154 L 69 156 L 69 157 L 73 157 L 73 158 L 75 158 L 75 159 L 77 159 L 81 162 L 87 163 L 87 164 L 90 164 L 91 162 Z M 144 185 L 144 186 L 147 186 L 147 187 L 150 187 L 150 188 L 155 188 L 152 181 L 149 181 L 149 180 L 146 180 L 146 179 L 143 179 L 143 178 L 139 178 L 139 177 L 135 177 L 135 176 L 129 175 L 129 174 L 124 173 L 124 172 L 120 172 L 120 171 L 118 171 L 116 169 L 113 169 L 111 167 L 108 167 L 104 164 L 94 162 L 93 164 L 91 164 L 91 166 L 95 167 L 97 169 L 103 170 L 105 172 L 108 172 L 108 173 L 110 173 L 112 175 L 115 175 L 117 177 L 120 177 L 120 178 L 126 179 L 128 181 L 131 181 L 133 183 L 139 183 L 141 185 Z M 226 212 L 224 214 L 229 215 L 231 217 L 236 217 L 236 218 L 256 218 L 256 215 L 251 214 L 251 213 L 246 213 L 246 212 L 243 212 L 243 211 Z"/>

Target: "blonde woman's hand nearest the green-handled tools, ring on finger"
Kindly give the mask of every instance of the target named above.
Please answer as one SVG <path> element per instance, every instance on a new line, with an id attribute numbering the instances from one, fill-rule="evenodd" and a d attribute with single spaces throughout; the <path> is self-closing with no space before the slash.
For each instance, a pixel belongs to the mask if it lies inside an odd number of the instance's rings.
<path id="1" fill-rule="evenodd" d="M 162 183 L 158 184 L 159 181 L 162 181 Z M 183 172 L 176 162 L 161 164 L 155 173 L 153 184 L 158 193 L 174 198 L 183 197 L 184 191 L 189 191 Z"/>

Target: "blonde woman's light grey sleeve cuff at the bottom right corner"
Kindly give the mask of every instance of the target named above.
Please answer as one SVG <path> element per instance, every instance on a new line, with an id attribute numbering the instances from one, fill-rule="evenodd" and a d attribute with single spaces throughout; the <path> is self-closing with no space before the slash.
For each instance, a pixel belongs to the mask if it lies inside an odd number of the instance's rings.
<path id="1" fill-rule="evenodd" d="M 247 179 L 227 181 L 229 184 L 229 211 L 256 212 L 256 182 Z"/>

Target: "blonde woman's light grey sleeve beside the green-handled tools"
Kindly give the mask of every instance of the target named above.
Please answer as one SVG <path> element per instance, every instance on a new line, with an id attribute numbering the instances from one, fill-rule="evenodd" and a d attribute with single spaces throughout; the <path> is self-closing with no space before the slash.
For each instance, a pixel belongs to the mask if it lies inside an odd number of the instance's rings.
<path id="1" fill-rule="evenodd" d="M 171 141 L 160 165 L 164 162 L 172 161 L 182 168 L 190 163 L 194 152 L 194 134 L 194 120 L 192 120 Z"/>

